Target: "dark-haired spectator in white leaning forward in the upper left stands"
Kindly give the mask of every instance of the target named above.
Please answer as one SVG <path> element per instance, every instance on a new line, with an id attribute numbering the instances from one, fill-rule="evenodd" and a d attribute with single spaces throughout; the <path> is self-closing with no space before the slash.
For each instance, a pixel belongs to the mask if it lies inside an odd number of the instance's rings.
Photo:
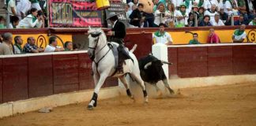
<path id="1" fill-rule="evenodd" d="M 39 15 L 35 8 L 32 8 L 30 11 L 32 14 L 24 17 L 24 19 L 17 25 L 17 28 L 41 28 L 43 26 L 43 15 Z"/>

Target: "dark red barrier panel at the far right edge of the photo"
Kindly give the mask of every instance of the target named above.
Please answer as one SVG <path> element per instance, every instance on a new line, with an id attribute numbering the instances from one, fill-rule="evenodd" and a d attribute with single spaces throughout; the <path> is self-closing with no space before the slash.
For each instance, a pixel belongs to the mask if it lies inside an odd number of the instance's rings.
<path id="1" fill-rule="evenodd" d="M 255 50 L 256 46 L 233 46 L 234 74 L 256 73 Z"/>

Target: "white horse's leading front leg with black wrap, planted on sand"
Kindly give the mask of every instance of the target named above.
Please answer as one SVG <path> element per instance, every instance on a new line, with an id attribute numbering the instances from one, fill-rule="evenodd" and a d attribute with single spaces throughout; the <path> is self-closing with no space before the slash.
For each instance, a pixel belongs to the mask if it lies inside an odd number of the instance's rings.
<path id="1" fill-rule="evenodd" d="M 107 78 L 107 74 L 99 76 L 95 73 L 95 75 L 93 76 L 94 82 L 95 83 L 97 82 L 97 83 L 94 88 L 92 99 L 87 106 L 88 109 L 93 109 L 93 107 L 97 106 L 97 99 L 98 99 L 98 94 L 100 92 L 100 87 L 104 84 L 106 78 Z"/>

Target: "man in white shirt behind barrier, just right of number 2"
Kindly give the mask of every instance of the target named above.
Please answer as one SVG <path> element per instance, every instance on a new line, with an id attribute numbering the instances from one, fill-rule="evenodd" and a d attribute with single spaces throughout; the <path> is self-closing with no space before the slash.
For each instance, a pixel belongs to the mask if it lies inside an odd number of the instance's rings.
<path id="1" fill-rule="evenodd" d="M 58 52 L 63 51 L 64 48 L 62 46 L 57 46 L 57 38 L 55 36 L 51 36 L 49 39 L 49 45 L 45 48 L 44 52 Z"/>

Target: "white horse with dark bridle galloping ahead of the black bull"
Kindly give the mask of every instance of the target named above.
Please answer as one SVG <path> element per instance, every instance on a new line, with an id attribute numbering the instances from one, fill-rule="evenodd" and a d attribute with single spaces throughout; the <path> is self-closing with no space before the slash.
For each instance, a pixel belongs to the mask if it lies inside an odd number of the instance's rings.
<path id="1" fill-rule="evenodd" d="M 127 83 L 125 78 L 125 73 L 129 73 L 130 76 L 140 84 L 145 102 L 148 102 L 148 95 L 145 91 L 145 84 L 140 76 L 140 69 L 138 67 L 137 58 L 133 54 L 133 51 L 130 50 L 130 57 L 133 58 L 134 62 L 130 59 L 127 59 L 126 64 L 123 66 L 123 74 L 116 74 L 115 69 L 115 57 L 111 48 L 107 46 L 107 37 L 104 34 L 104 31 L 101 28 L 89 28 L 88 30 L 88 55 L 92 61 L 92 71 L 93 71 L 93 80 L 95 83 L 94 93 L 92 95 L 91 101 L 88 103 L 88 109 L 93 109 L 97 105 L 97 98 L 100 92 L 100 87 L 103 85 L 104 81 L 107 79 L 107 76 L 118 77 L 119 80 L 126 87 L 126 93 L 130 98 L 133 98 L 133 95 L 130 93 L 129 83 Z M 115 43 L 117 44 L 117 43 Z M 117 44 L 118 45 L 118 44 Z"/>

